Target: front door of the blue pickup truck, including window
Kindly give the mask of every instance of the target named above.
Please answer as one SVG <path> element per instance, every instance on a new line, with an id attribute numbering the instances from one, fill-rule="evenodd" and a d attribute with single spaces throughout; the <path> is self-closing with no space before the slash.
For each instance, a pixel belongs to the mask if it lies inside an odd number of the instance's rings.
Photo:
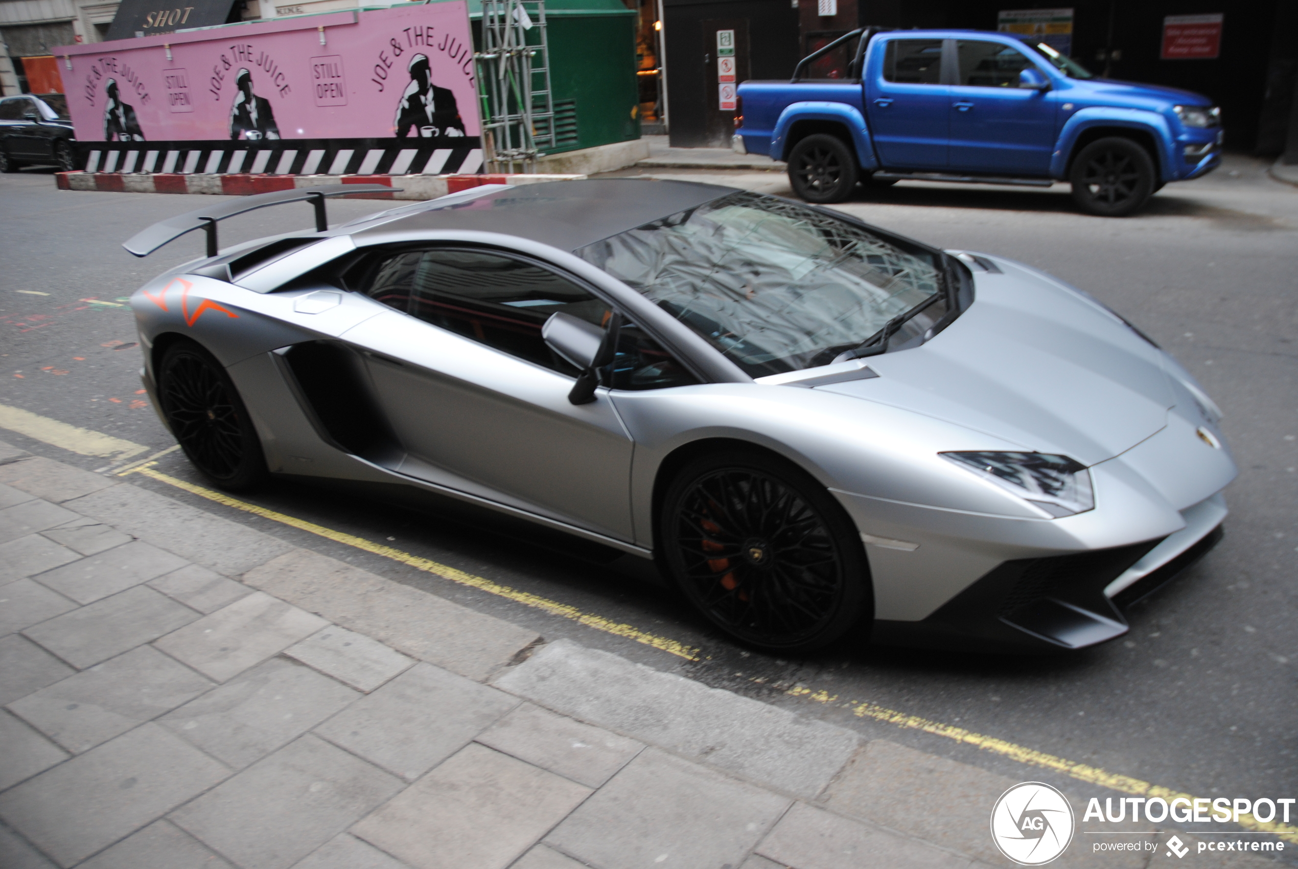
<path id="1" fill-rule="evenodd" d="M 1014 45 L 989 39 L 957 39 L 955 53 L 951 169 L 1005 175 L 1049 174 L 1057 103 L 1050 91 L 1019 87 L 1019 73 L 1036 69 L 1036 65 Z M 1046 78 L 1044 73 L 1042 78 Z"/>

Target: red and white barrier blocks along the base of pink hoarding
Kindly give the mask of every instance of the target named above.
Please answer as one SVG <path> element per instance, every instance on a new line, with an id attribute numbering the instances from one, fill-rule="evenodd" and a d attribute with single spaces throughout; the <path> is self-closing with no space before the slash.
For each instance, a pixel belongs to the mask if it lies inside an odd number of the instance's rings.
<path id="1" fill-rule="evenodd" d="M 60 171 L 58 190 L 90 190 L 112 194 L 214 194 L 247 196 L 276 190 L 319 184 L 383 184 L 391 194 L 361 194 L 357 199 L 436 199 L 479 184 L 537 184 L 548 181 L 582 181 L 585 175 L 206 175 L 179 173 Z"/>

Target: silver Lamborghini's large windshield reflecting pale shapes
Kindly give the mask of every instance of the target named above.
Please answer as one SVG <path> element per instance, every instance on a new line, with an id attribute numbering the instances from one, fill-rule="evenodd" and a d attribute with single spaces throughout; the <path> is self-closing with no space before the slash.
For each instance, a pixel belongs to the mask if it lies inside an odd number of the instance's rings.
<path id="1" fill-rule="evenodd" d="M 749 377 L 832 362 L 920 308 L 925 323 L 945 313 L 942 253 L 750 192 L 576 255 L 670 312 Z"/>

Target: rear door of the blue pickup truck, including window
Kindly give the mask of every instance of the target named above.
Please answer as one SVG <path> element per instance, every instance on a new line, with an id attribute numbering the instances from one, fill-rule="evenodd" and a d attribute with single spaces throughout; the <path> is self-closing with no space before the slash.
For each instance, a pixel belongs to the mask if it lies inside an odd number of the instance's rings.
<path id="1" fill-rule="evenodd" d="M 941 39 L 887 39 L 871 69 L 866 112 L 884 169 L 945 169 L 950 87 Z"/>

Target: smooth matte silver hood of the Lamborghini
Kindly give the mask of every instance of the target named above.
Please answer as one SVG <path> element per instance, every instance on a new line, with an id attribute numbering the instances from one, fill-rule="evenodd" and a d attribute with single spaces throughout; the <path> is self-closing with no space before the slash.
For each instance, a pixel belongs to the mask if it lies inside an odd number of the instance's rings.
<path id="1" fill-rule="evenodd" d="M 1167 425 L 1162 351 L 1085 294 L 997 260 L 941 334 L 870 360 L 879 377 L 816 387 L 984 431 L 1084 465 Z M 998 447 L 1003 449 L 1003 447 Z"/>

